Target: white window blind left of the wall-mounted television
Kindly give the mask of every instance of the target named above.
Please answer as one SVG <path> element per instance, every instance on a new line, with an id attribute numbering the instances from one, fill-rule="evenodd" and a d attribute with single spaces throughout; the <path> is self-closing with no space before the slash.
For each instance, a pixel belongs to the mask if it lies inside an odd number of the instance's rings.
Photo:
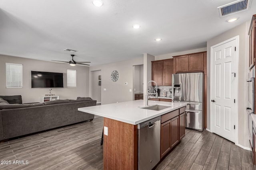
<path id="1" fill-rule="evenodd" d="M 6 88 L 22 88 L 22 64 L 6 64 Z"/>

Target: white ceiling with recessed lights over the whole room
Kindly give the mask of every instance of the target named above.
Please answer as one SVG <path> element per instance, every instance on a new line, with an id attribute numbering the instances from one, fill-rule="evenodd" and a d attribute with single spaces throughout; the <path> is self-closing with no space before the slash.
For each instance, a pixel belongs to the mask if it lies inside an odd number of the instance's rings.
<path id="1" fill-rule="evenodd" d="M 234 0 L 102 1 L 96 7 L 91 0 L 0 0 L 0 54 L 44 61 L 69 61 L 75 54 L 74 60 L 95 66 L 206 47 L 256 14 L 254 0 L 250 10 L 224 18 L 217 7 Z M 233 17 L 239 19 L 226 22 Z"/>

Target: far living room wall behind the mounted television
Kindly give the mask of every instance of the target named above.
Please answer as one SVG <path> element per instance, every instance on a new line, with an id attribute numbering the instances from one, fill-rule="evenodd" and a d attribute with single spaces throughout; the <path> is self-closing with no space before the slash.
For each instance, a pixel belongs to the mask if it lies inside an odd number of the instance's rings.
<path id="1" fill-rule="evenodd" d="M 23 64 L 23 88 L 6 88 L 5 63 Z M 77 70 L 76 88 L 67 88 L 67 69 Z M 49 88 L 31 88 L 31 71 L 61 72 L 63 73 L 64 88 L 52 88 L 52 93 L 60 99 L 76 99 L 78 96 L 89 96 L 89 67 L 70 66 L 53 62 L 24 59 L 0 55 L 0 95 L 22 95 L 22 102 L 40 102 L 41 96 L 49 93 Z"/>

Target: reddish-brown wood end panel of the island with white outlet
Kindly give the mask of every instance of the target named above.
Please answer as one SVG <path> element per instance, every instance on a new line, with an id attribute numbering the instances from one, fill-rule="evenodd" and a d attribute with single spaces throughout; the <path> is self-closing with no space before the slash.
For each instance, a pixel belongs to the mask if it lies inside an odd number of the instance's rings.
<path id="1" fill-rule="evenodd" d="M 104 117 L 108 136 L 103 140 L 104 170 L 137 170 L 137 125 Z"/>

